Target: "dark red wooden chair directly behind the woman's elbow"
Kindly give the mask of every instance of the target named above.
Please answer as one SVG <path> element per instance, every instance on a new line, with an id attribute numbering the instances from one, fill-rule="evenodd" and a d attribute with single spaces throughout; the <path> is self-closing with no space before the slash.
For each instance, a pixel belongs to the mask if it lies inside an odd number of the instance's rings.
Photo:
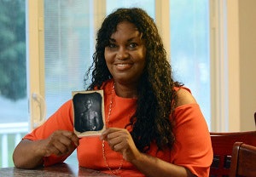
<path id="1" fill-rule="evenodd" d="M 256 131 L 213 133 L 211 132 L 213 160 L 210 177 L 225 177 L 230 174 L 232 148 L 235 142 L 256 146 Z"/>

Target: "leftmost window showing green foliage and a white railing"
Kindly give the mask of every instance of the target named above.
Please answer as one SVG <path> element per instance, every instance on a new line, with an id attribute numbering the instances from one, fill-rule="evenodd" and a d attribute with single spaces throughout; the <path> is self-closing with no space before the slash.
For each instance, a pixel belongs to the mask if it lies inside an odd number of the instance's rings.
<path id="1" fill-rule="evenodd" d="M 15 10 L 14 10 L 15 9 Z M 0 168 L 28 131 L 26 98 L 26 4 L 0 0 Z"/>

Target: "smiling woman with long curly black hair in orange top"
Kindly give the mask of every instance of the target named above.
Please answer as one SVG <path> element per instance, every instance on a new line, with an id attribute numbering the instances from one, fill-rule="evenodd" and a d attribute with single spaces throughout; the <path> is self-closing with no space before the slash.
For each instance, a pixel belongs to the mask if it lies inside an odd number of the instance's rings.
<path id="1" fill-rule="evenodd" d="M 15 166 L 59 163 L 77 148 L 79 166 L 109 174 L 208 176 L 212 146 L 207 123 L 189 89 L 173 81 L 148 14 L 143 9 L 109 14 L 97 33 L 93 58 L 88 89 L 104 91 L 107 129 L 101 139 L 73 134 L 69 100 L 21 140 Z"/>

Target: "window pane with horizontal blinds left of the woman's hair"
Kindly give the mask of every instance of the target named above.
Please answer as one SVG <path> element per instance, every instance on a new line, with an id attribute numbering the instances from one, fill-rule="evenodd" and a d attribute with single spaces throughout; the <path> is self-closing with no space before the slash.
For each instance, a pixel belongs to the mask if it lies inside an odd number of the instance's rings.
<path id="1" fill-rule="evenodd" d="M 90 66 L 90 1 L 44 1 L 44 92 L 47 116 L 84 89 Z"/>

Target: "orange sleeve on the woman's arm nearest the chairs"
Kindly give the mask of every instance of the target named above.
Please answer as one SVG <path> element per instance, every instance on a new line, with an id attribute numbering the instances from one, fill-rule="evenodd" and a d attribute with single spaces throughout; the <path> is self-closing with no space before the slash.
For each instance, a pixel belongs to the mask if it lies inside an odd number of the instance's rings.
<path id="1" fill-rule="evenodd" d="M 212 143 L 207 123 L 198 104 L 178 106 L 174 111 L 176 137 L 171 158 L 197 176 L 209 176 Z"/>

